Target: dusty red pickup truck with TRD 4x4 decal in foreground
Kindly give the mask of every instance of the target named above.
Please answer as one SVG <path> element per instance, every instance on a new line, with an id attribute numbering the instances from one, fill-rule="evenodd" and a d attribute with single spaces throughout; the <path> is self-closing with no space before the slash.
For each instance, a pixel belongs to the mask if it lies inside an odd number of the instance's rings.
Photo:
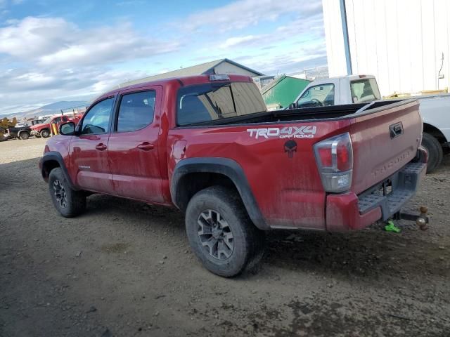
<path id="1" fill-rule="evenodd" d="M 267 230 L 398 215 L 425 174 L 421 137 L 415 100 L 269 112 L 252 79 L 212 74 L 105 93 L 39 167 L 65 217 L 91 192 L 176 206 L 203 265 L 231 277 L 259 261 Z"/>

